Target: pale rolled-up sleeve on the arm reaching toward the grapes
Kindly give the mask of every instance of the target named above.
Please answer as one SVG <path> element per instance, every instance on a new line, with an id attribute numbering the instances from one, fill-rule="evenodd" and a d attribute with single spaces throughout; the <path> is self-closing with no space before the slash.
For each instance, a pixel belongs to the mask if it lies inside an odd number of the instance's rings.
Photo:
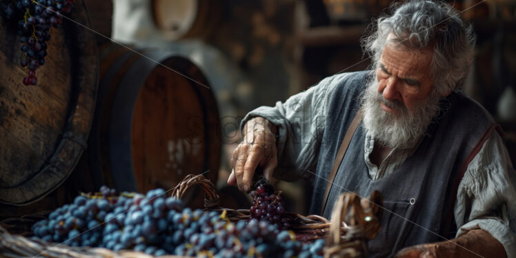
<path id="1" fill-rule="evenodd" d="M 252 110 L 241 121 L 241 130 L 252 117 L 264 117 L 278 127 L 278 167 L 274 177 L 293 181 L 310 177 L 308 171 L 315 171 L 330 92 L 347 75 L 323 79 L 285 102 L 277 101 L 273 107 L 261 106 Z"/>

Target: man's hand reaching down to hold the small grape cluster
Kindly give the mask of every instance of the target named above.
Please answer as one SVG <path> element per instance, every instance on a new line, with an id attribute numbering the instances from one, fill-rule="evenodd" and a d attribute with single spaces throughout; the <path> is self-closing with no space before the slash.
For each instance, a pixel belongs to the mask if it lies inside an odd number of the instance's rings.
<path id="1" fill-rule="evenodd" d="M 236 183 L 239 190 L 249 192 L 257 166 L 264 168 L 264 177 L 270 181 L 278 164 L 276 134 L 276 126 L 263 117 L 255 117 L 246 123 L 244 140 L 233 151 L 233 170 L 228 185 L 234 186 Z"/>

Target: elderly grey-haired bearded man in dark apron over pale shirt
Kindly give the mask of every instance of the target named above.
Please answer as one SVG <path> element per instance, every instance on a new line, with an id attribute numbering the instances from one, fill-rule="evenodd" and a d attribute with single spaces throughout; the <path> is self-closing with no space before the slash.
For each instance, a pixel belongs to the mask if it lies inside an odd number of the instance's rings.
<path id="1" fill-rule="evenodd" d="M 244 118 L 228 183 L 248 192 L 258 166 L 267 178 L 312 177 L 310 213 L 324 217 L 341 192 L 379 190 L 371 257 L 515 257 L 515 171 L 493 118 L 457 91 L 470 26 L 445 3 L 409 1 L 375 21 L 364 46 L 372 71 Z"/>

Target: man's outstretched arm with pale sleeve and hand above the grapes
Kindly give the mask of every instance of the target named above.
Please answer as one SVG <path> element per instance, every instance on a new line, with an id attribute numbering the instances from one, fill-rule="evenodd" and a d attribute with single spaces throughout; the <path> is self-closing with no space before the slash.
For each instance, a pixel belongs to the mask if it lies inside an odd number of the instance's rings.
<path id="1" fill-rule="evenodd" d="M 266 177 L 274 170 L 274 176 L 284 180 L 298 179 L 315 167 L 329 92 L 346 76 L 328 77 L 284 103 L 278 101 L 274 107 L 262 106 L 249 112 L 241 122 L 243 141 L 233 152 L 228 184 L 237 184 L 247 192 L 258 165 L 264 168 Z"/>

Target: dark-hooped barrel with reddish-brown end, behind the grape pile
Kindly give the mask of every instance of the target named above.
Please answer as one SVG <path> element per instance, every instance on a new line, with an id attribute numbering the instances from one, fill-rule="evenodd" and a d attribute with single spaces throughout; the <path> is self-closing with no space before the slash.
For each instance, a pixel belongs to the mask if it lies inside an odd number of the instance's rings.
<path id="1" fill-rule="evenodd" d="M 139 192 L 170 189 L 188 174 L 205 173 L 215 183 L 219 115 L 201 70 L 163 50 L 139 54 L 109 44 L 99 51 L 101 79 L 88 147 L 92 173 L 101 176 L 96 181 Z"/>

